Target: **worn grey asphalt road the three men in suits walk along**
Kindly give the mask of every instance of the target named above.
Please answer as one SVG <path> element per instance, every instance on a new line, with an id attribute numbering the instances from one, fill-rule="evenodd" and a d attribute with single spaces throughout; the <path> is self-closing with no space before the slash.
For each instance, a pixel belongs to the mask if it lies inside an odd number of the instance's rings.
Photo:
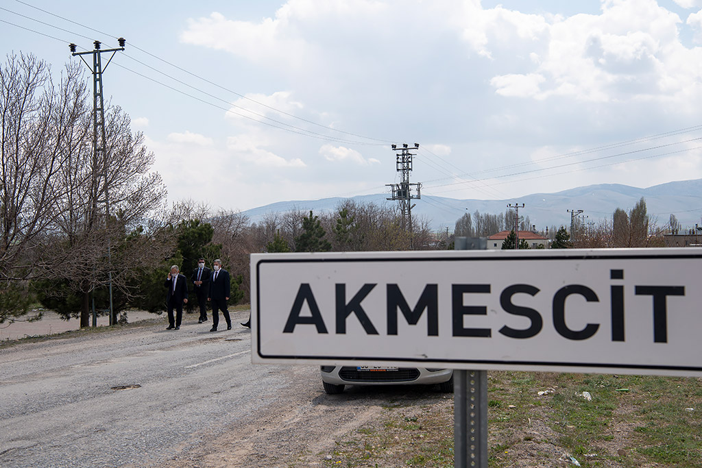
<path id="1" fill-rule="evenodd" d="M 0 349 L 0 466 L 171 466 L 300 381 L 305 399 L 323 394 L 317 368 L 251 364 L 246 316 L 217 333 L 187 316 L 177 331 L 164 322 Z"/>

